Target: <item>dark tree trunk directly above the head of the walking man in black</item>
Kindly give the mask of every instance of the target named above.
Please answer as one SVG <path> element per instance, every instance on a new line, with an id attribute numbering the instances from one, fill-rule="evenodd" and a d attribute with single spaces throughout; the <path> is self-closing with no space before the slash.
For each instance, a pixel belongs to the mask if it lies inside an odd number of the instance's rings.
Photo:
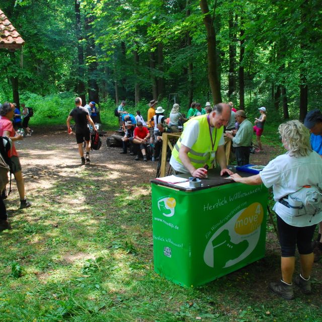
<path id="1" fill-rule="evenodd" d="M 82 99 L 83 105 L 86 104 L 86 89 L 84 82 L 84 48 L 82 44 L 82 22 L 81 22 L 81 8 L 79 0 L 75 0 L 75 22 L 76 22 L 76 35 L 77 35 L 77 94 Z"/>

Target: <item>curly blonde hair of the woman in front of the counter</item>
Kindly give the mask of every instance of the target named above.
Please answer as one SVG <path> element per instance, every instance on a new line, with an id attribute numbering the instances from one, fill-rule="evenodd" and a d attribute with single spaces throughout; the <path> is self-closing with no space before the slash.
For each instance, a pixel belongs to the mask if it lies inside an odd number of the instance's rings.
<path id="1" fill-rule="evenodd" d="M 288 145 L 290 156 L 300 157 L 312 152 L 309 130 L 297 120 L 280 124 L 278 131 Z"/>

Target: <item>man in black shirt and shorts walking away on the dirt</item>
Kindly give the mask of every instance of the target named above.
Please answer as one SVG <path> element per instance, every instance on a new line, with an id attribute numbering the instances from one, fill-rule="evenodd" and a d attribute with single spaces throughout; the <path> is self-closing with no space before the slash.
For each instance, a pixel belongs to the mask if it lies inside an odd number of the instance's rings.
<path id="1" fill-rule="evenodd" d="M 90 126 L 92 125 L 94 131 L 96 132 L 97 129 L 93 120 L 90 117 L 89 111 L 87 108 L 82 106 L 82 99 L 80 97 L 75 98 L 75 105 L 76 107 L 70 111 L 69 116 L 67 117 L 67 130 L 68 134 L 72 133 L 70 128 L 70 121 L 71 119 L 75 122 L 75 135 L 76 135 L 76 142 L 78 144 L 78 152 L 81 156 L 82 165 L 85 165 L 85 161 L 87 164 L 91 162 L 90 160 L 90 149 L 91 149 L 91 132 Z M 84 149 L 83 149 L 83 142 L 86 143 L 86 159 L 84 157 Z"/>

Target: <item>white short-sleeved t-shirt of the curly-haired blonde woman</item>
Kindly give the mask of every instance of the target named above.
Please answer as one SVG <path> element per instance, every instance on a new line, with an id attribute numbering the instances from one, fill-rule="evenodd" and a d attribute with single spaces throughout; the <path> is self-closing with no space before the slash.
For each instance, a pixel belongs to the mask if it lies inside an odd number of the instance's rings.
<path id="1" fill-rule="evenodd" d="M 260 172 L 267 188 L 273 186 L 273 210 L 289 225 L 302 227 L 316 224 L 322 220 L 322 212 L 294 217 L 289 208 L 278 202 L 281 198 L 299 190 L 305 185 L 322 185 L 322 158 L 312 151 L 308 156 L 294 157 L 288 153 L 277 156 Z"/>

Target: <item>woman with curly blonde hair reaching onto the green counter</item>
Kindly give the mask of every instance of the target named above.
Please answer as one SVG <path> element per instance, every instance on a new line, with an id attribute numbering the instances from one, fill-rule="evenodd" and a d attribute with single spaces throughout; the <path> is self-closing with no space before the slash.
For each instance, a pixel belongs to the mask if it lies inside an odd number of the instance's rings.
<path id="1" fill-rule="evenodd" d="M 293 299 L 292 277 L 295 268 L 295 248 L 300 254 L 301 273 L 295 276 L 294 282 L 304 293 L 311 292 L 310 274 L 313 265 L 311 240 L 315 226 L 322 220 L 321 187 L 322 159 L 311 149 L 310 134 L 299 121 L 289 121 L 279 126 L 282 143 L 287 150 L 285 154 L 273 159 L 263 171 L 255 176 L 241 178 L 231 175 L 236 182 L 249 185 L 264 184 L 273 187 L 273 210 L 277 214 L 277 226 L 281 245 L 282 279 L 269 284 L 269 289 L 286 299 Z M 316 196 L 316 212 L 310 212 L 306 207 L 303 213 L 299 208 L 292 208 L 292 194 L 301 193 L 306 196 L 313 190 Z M 290 197 L 289 197 L 290 196 Z M 302 199 L 302 198 L 300 198 Z M 291 205 L 291 207 L 290 207 Z M 296 213 L 296 210 L 298 213 Z"/>

